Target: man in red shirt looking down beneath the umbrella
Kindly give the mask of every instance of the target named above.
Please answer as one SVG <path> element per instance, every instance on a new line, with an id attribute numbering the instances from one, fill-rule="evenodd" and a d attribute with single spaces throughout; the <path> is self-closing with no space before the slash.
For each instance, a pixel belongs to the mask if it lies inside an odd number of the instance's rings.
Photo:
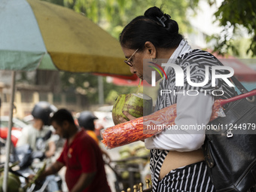
<path id="1" fill-rule="evenodd" d="M 59 109 L 51 118 L 51 124 L 56 134 L 67 140 L 59 158 L 41 177 L 66 166 L 66 184 L 70 192 L 110 192 L 101 150 L 84 129 L 75 125 L 72 114 Z"/>

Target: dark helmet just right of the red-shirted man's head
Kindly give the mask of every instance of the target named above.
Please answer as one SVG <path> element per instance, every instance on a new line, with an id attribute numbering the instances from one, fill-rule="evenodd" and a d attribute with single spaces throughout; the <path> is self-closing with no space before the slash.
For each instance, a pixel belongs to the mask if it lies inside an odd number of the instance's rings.
<path id="1" fill-rule="evenodd" d="M 81 127 L 84 127 L 85 130 L 94 130 L 94 120 L 98 119 L 92 112 L 90 111 L 82 111 L 78 117 L 78 124 Z"/>

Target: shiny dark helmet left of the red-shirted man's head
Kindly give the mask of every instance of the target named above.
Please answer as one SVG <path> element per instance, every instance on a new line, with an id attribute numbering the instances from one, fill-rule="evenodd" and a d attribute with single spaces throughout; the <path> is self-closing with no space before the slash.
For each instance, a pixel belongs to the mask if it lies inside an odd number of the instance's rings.
<path id="1" fill-rule="evenodd" d="M 34 118 L 41 119 L 44 125 L 50 125 L 50 114 L 57 111 L 54 105 L 50 105 L 49 102 L 38 102 L 32 110 L 32 116 Z"/>

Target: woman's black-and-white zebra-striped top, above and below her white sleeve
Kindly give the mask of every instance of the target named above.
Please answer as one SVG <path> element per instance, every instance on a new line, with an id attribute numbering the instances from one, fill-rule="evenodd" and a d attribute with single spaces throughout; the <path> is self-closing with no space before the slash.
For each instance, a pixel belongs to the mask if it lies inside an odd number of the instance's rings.
<path id="1" fill-rule="evenodd" d="M 216 99 L 227 99 L 234 96 L 233 87 L 229 87 L 226 82 L 222 79 L 216 79 L 216 87 L 212 87 L 212 66 L 223 66 L 222 63 L 215 58 L 211 53 L 203 50 L 192 50 L 189 53 L 179 56 L 175 60 L 175 64 L 180 66 L 184 72 L 184 86 L 175 86 L 175 70 L 169 69 L 168 79 L 163 79 L 160 82 L 160 90 L 171 90 L 169 94 L 160 93 L 157 96 L 157 103 L 155 106 L 156 111 L 166 108 L 169 105 L 173 105 L 177 102 L 177 94 L 173 94 L 174 91 L 177 93 L 179 90 L 207 90 L 207 94 L 211 94 L 213 90 L 222 90 L 224 95 Z M 187 66 L 190 66 L 190 80 L 195 83 L 203 82 L 206 74 L 206 66 L 209 66 L 209 81 L 203 87 L 193 87 L 187 83 Z M 216 70 L 216 75 L 228 74 L 225 70 Z M 217 92 L 216 92 L 217 93 Z M 218 94 L 220 95 L 220 94 Z M 151 179 L 153 184 L 153 192 L 157 191 L 158 178 L 160 175 L 160 169 L 163 165 L 163 161 L 169 151 L 161 149 L 151 149 Z"/>

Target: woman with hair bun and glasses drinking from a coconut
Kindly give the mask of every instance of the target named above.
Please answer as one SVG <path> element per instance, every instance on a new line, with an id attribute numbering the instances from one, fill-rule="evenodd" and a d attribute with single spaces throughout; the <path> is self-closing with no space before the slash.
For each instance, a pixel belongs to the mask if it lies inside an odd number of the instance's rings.
<path id="1" fill-rule="evenodd" d="M 209 123 L 215 99 L 212 90 L 216 88 L 212 87 L 211 69 L 212 66 L 222 66 L 221 62 L 206 51 L 192 50 L 183 36 L 178 33 L 178 23 L 157 7 L 149 8 L 144 16 L 136 17 L 124 27 L 120 34 L 120 45 L 127 58 L 124 62 L 130 66 L 130 72 L 148 81 L 149 84 L 151 84 L 152 70 L 148 72 L 147 65 L 143 68 L 143 62 L 147 59 L 151 63 L 158 62 L 159 66 L 161 66 L 160 59 L 166 59 L 183 69 L 185 75 L 184 85 L 175 86 L 175 69 L 168 66 L 163 68 L 166 78 L 160 81 L 160 90 L 169 90 L 169 92 L 165 94 L 159 92 L 155 110 L 176 104 L 175 125 L 178 129 L 164 130 L 156 136 L 145 139 L 145 147 L 151 150 L 153 191 L 215 191 L 206 171 L 202 150 L 205 130 L 194 131 L 182 127 Z M 187 72 L 187 66 L 190 72 Z M 188 73 L 190 73 L 190 81 L 187 81 Z M 215 73 L 225 72 L 220 70 Z M 204 82 L 206 74 L 209 74 L 207 84 L 202 87 L 190 85 L 191 82 L 194 84 Z M 160 75 L 156 75 L 156 81 L 158 80 Z M 221 93 L 224 93 L 220 96 L 221 99 L 234 96 L 233 87 L 229 87 L 221 79 L 216 81 L 216 86 L 222 91 Z M 191 96 L 193 90 L 197 94 Z M 187 94 L 187 91 L 191 94 Z M 123 114 L 130 120 L 135 118 L 126 111 L 123 111 Z"/>

